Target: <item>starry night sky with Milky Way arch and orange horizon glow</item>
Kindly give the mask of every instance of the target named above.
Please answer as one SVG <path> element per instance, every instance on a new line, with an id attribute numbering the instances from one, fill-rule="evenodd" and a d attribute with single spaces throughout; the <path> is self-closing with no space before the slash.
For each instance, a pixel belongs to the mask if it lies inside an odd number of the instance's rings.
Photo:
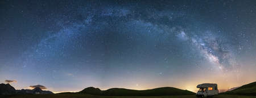
<path id="1" fill-rule="evenodd" d="M 0 1 L 0 82 L 53 92 L 256 81 L 256 1 Z"/>

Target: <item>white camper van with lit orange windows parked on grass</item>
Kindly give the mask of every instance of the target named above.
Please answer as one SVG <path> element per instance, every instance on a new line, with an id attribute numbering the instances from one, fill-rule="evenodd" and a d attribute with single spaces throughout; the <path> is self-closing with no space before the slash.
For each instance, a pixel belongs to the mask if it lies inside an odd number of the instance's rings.
<path id="1" fill-rule="evenodd" d="M 218 94 L 217 84 L 214 83 L 203 83 L 196 87 L 199 88 L 199 91 L 196 93 L 197 97 L 209 97 Z"/>

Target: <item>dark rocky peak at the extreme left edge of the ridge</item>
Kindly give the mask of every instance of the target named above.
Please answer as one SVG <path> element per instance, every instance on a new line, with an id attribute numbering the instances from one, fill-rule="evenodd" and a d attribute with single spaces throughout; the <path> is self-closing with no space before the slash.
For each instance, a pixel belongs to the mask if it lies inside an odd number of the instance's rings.
<path id="1" fill-rule="evenodd" d="M 0 95 L 12 95 L 15 94 L 16 90 L 13 86 L 11 86 L 9 83 L 7 84 L 0 84 Z"/>

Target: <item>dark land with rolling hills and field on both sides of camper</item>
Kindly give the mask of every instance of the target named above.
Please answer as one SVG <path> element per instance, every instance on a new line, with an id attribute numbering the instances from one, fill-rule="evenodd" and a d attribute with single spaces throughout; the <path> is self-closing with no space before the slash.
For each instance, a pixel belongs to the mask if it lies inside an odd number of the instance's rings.
<path id="1" fill-rule="evenodd" d="M 0 88 L 2 94 L 10 94 L 11 91 L 15 91 L 15 89 L 11 87 L 10 84 L 4 84 Z M 256 98 L 255 91 L 256 82 L 253 82 L 236 88 L 233 91 L 219 93 L 213 98 Z M 0 98 L 196 98 L 195 94 L 196 93 L 194 92 L 180 90 L 174 87 L 160 87 L 151 90 L 129 90 L 125 88 L 110 88 L 109 90 L 105 91 L 102 91 L 99 88 L 88 87 L 80 92 L 63 92 L 44 95 L 35 95 L 31 93 L 15 93 L 14 95 L 0 95 Z"/>

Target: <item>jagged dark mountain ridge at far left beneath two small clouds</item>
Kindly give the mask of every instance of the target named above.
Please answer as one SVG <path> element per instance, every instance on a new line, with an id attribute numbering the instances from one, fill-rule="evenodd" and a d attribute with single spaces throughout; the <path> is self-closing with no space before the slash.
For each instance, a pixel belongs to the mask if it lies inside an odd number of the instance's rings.
<path id="1" fill-rule="evenodd" d="M 51 91 L 43 91 L 41 88 L 36 87 L 33 90 L 15 90 L 9 83 L 0 84 L 0 95 L 15 95 L 15 94 L 53 94 Z"/>

